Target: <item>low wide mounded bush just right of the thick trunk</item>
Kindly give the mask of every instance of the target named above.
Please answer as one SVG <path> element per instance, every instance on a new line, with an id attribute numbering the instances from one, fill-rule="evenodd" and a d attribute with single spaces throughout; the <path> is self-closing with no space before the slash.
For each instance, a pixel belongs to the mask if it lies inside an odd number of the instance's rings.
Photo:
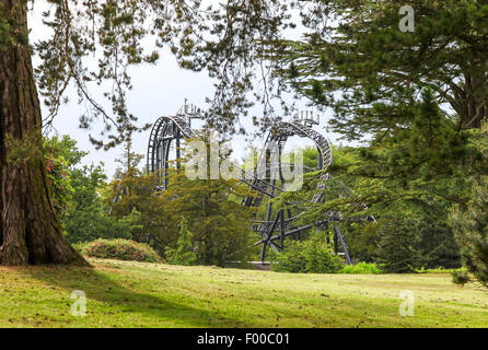
<path id="1" fill-rule="evenodd" d="M 78 245 L 81 254 L 101 259 L 161 262 L 161 257 L 147 244 L 128 240 L 96 240 Z"/>

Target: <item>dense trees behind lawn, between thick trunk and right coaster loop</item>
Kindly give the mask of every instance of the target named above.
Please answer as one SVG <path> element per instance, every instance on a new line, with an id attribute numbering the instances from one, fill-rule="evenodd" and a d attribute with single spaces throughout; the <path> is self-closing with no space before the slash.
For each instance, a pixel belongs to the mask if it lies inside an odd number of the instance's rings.
<path id="1" fill-rule="evenodd" d="M 142 172 L 130 140 L 111 182 L 103 164 L 80 165 L 85 153 L 69 137 L 46 143 L 54 164 L 69 164 L 62 174 L 53 174 L 50 188 L 54 201 L 62 203 L 57 213 L 70 243 L 129 238 L 149 243 L 170 261 L 185 260 L 174 258 L 175 252 L 194 256 L 191 264 L 248 260 L 252 211 L 241 202 L 252 192 L 237 180 L 190 180 L 174 168 L 167 176 L 171 187 L 161 192 L 161 179 Z"/>

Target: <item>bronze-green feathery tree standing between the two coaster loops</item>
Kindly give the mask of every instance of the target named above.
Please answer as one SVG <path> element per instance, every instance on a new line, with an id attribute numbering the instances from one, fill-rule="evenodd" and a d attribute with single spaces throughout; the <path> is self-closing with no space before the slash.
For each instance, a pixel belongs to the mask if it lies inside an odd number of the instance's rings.
<path id="1" fill-rule="evenodd" d="M 241 201 L 248 189 L 237 180 L 190 180 L 184 174 L 170 175 L 170 183 L 159 197 L 161 212 L 169 221 L 166 234 L 177 236 L 174 223 L 183 215 L 193 233 L 197 264 L 247 261 L 252 210 Z"/>

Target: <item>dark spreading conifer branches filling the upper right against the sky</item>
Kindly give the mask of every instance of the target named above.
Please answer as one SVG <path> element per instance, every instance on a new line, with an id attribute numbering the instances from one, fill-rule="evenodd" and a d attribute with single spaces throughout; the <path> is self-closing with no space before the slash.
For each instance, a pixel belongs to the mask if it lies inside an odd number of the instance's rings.
<path id="1" fill-rule="evenodd" d="M 414 102 L 429 88 L 456 129 L 480 128 L 488 116 L 488 1 L 408 5 L 228 1 L 209 22 L 213 35 L 198 40 L 200 33 L 193 33 L 191 47 L 179 54 L 186 68 L 219 78 L 216 115 L 244 110 L 253 90 L 269 116 L 276 112 L 271 97 L 292 92 L 316 107 L 333 107 L 330 125 L 348 139 L 381 138 L 410 125 Z M 301 37 L 286 31 L 299 23 Z"/>

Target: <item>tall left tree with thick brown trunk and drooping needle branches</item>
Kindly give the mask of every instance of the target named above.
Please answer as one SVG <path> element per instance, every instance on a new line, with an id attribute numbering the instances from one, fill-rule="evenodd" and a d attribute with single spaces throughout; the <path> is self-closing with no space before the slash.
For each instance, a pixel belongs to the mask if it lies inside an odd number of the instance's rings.
<path id="1" fill-rule="evenodd" d="M 28 42 L 28 4 L 47 4 L 43 23 L 51 33 L 34 46 Z M 42 128 L 58 114 L 68 86 L 73 84 L 89 106 L 80 126 L 101 118 L 105 128 L 90 138 L 98 148 L 114 147 L 128 131 L 140 129 L 126 104 L 128 68 L 155 62 L 163 46 L 178 57 L 191 52 L 195 37 L 204 42 L 200 34 L 211 33 L 207 20 L 222 12 L 197 0 L 0 0 L 1 265 L 85 264 L 62 237 L 40 151 Z M 148 50 L 143 39 L 149 36 L 155 43 Z M 40 59 L 35 75 L 34 52 Z M 103 97 L 112 112 L 90 93 L 91 84 L 108 85 Z M 48 109 L 44 119 L 37 88 Z"/>

